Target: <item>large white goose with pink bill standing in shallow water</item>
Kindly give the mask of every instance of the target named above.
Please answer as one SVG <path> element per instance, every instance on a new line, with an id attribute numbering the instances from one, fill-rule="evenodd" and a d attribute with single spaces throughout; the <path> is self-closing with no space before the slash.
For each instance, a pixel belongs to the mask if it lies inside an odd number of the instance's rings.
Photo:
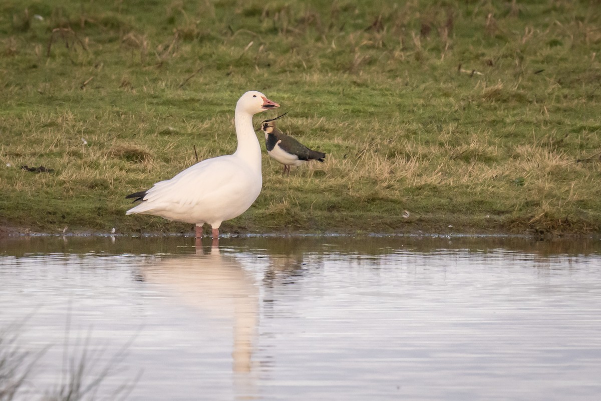
<path id="1" fill-rule="evenodd" d="M 203 224 L 208 223 L 213 228 L 213 241 L 217 240 L 221 222 L 246 212 L 261 192 L 261 147 L 252 116 L 276 107 L 278 103 L 263 93 L 243 94 L 234 114 L 236 152 L 203 160 L 147 191 L 127 195 L 126 198 L 141 203 L 125 214 L 140 213 L 196 224 L 197 238 L 203 236 Z"/>

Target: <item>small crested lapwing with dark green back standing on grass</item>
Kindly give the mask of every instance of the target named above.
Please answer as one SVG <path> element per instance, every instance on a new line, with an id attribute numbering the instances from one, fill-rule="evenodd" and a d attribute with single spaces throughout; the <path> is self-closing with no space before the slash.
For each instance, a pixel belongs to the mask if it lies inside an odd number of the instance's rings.
<path id="1" fill-rule="evenodd" d="M 288 173 L 290 175 L 290 166 L 300 166 L 310 160 L 317 160 L 323 163 L 323 158 L 326 157 L 325 153 L 306 147 L 301 142 L 276 128 L 273 121 L 284 117 L 285 114 L 261 123 L 261 130 L 265 133 L 267 154 L 284 165 L 284 172 L 282 174 Z"/>

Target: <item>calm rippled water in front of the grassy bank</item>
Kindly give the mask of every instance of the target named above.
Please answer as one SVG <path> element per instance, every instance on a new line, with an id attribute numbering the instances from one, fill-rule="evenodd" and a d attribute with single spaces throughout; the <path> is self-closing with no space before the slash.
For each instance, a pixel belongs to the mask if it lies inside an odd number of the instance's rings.
<path id="1" fill-rule="evenodd" d="M 56 390 L 79 361 L 109 400 L 601 394 L 600 240 L 220 245 L 0 240 L 0 331 L 35 362 L 16 399 Z"/>

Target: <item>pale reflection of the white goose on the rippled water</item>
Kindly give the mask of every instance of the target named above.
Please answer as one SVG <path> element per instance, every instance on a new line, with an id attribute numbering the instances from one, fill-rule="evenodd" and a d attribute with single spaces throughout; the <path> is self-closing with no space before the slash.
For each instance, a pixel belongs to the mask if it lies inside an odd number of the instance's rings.
<path id="1" fill-rule="evenodd" d="M 145 266 L 145 281 L 171 288 L 204 313 L 233 319 L 233 370 L 249 373 L 258 325 L 258 288 L 237 260 L 219 254 L 163 259 Z"/>

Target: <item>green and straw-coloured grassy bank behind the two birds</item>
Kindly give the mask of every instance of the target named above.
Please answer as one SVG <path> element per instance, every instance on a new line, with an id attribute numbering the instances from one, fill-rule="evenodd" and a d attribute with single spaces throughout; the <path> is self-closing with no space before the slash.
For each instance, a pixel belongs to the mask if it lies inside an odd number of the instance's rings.
<path id="1" fill-rule="evenodd" d="M 123 197 L 194 146 L 233 152 L 257 89 L 328 156 L 288 178 L 264 155 L 263 192 L 223 232 L 599 233 L 600 26 L 598 0 L 8 0 L 0 219 L 191 230 Z"/>

